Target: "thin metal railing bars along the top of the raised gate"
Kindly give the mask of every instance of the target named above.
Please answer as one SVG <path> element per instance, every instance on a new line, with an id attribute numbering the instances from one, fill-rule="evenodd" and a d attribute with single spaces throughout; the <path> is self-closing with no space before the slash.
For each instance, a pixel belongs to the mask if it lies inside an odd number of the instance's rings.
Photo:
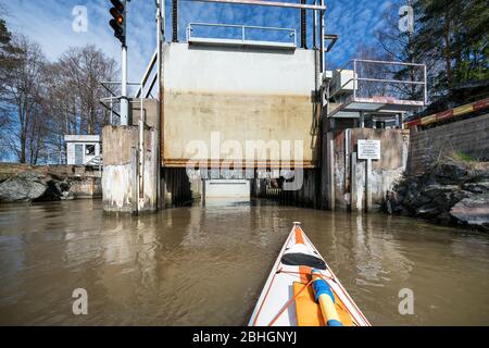
<path id="1" fill-rule="evenodd" d="M 218 38 L 218 37 L 202 37 L 202 36 L 192 36 L 192 33 L 198 27 L 206 27 L 206 28 L 235 28 L 240 29 L 239 37 L 237 35 L 227 35 L 225 38 Z M 247 30 L 269 30 L 269 32 L 283 32 L 283 33 L 289 33 L 288 38 L 292 38 L 291 42 L 287 41 L 272 41 L 272 40 L 255 40 L 255 39 L 249 39 L 249 35 L 247 35 Z M 280 28 L 280 27 L 271 27 L 271 26 L 253 26 L 253 25 L 237 25 L 237 24 L 217 24 L 217 23 L 189 23 L 187 26 L 187 41 L 191 41 L 192 39 L 213 39 L 213 40 L 233 40 L 233 41 L 239 41 L 241 44 L 247 42 L 279 42 L 279 44 L 286 44 L 290 45 L 292 47 L 297 47 L 297 35 L 296 29 L 293 28 Z"/>

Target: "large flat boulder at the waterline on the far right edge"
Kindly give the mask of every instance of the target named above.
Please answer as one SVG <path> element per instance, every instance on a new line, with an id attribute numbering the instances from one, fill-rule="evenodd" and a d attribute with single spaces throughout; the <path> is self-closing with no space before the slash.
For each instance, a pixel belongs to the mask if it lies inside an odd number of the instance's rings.
<path id="1" fill-rule="evenodd" d="M 450 215 L 459 224 L 489 232 L 489 194 L 462 199 L 452 207 Z"/>

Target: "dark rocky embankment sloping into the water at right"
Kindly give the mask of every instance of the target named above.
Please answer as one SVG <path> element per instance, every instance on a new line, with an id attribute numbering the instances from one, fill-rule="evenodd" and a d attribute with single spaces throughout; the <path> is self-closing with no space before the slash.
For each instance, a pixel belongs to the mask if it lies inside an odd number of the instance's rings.
<path id="1" fill-rule="evenodd" d="M 398 183 L 384 210 L 489 232 L 489 163 L 443 160 Z"/>

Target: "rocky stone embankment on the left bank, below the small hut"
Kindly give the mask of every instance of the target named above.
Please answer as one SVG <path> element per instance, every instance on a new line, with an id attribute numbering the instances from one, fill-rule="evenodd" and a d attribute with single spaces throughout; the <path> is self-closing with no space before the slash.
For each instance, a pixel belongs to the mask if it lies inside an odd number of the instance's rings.
<path id="1" fill-rule="evenodd" d="M 73 165 L 0 163 L 0 203 L 99 196 L 100 172 Z"/>

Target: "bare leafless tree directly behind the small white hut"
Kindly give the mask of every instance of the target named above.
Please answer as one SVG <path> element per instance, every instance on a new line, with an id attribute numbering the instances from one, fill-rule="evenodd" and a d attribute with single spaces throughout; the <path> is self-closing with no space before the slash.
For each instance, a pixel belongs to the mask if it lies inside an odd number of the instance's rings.
<path id="1" fill-rule="evenodd" d="M 70 48 L 59 61 L 49 64 L 45 111 L 49 114 L 47 146 L 61 153 L 66 134 L 100 134 L 109 123 L 100 104 L 101 82 L 114 79 L 116 62 L 95 46 Z"/>

